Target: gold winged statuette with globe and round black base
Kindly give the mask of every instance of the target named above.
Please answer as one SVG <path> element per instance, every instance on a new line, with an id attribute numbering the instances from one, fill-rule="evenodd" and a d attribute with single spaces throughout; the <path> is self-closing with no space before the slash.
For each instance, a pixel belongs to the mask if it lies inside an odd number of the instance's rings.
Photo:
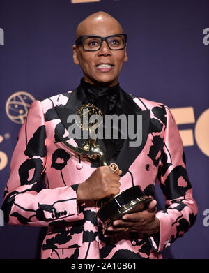
<path id="1" fill-rule="evenodd" d="M 93 115 L 96 113 L 102 116 L 101 110 L 96 108 L 93 104 L 88 103 L 82 105 L 82 108 L 77 111 L 79 117 L 84 112 L 84 109 L 88 109 L 89 115 Z M 82 128 L 82 130 L 87 128 L 86 124 L 82 124 L 82 122 L 81 124 L 77 124 L 80 126 L 80 128 Z M 61 140 L 61 142 L 63 142 L 63 144 L 75 154 L 91 158 L 97 161 L 100 166 L 107 166 L 109 165 L 109 162 L 106 155 L 104 154 L 102 148 L 99 145 L 96 145 L 96 138 L 91 138 L 91 135 L 93 135 L 92 128 L 95 127 L 90 125 L 88 124 L 90 138 L 88 142 L 84 142 L 82 147 L 74 147 L 70 145 L 67 141 L 65 141 L 65 139 L 61 135 L 59 135 L 59 133 L 56 132 L 56 135 Z M 115 172 L 118 168 L 116 163 L 111 163 L 110 167 L 111 172 Z M 121 219 L 124 214 L 139 212 L 143 209 L 146 209 L 151 200 L 153 200 L 153 198 L 144 195 L 143 191 L 141 191 L 140 186 L 132 186 L 131 188 L 126 189 L 121 193 L 118 193 L 110 199 L 104 198 L 103 200 L 101 200 L 102 206 L 100 207 L 100 209 L 98 209 L 97 216 L 102 222 L 104 230 L 106 230 L 106 228 L 108 226 L 111 226 L 111 224 L 115 220 Z"/>

